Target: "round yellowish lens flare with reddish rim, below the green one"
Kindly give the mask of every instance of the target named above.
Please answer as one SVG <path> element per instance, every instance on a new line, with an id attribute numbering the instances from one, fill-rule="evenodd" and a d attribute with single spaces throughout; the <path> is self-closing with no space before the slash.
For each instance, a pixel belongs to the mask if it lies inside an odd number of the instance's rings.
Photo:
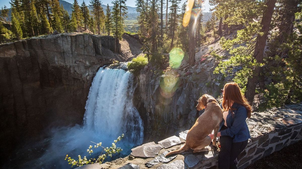
<path id="1" fill-rule="evenodd" d="M 160 94 L 165 98 L 170 98 L 178 88 L 177 75 L 169 74 L 160 80 Z"/>

